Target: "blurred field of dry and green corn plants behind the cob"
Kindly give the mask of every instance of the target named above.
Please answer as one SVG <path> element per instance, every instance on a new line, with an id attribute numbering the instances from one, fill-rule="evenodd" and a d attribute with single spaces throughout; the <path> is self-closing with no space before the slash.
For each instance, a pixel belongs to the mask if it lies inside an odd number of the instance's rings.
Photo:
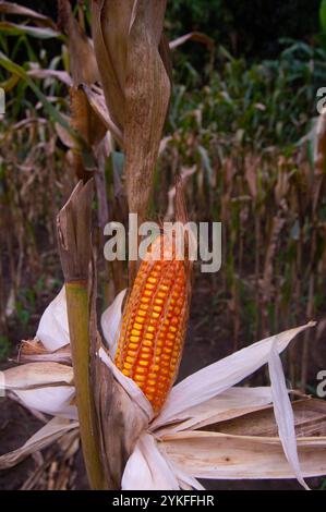
<path id="1" fill-rule="evenodd" d="M 92 161 L 87 168 L 86 151 L 69 131 L 74 41 L 56 24 L 56 2 L 20 2 L 50 16 L 46 22 L 8 14 L 1 3 L 11 2 L 0 2 L 0 86 L 7 95 L 0 124 L 0 359 L 7 365 L 62 285 L 55 219 Z M 314 394 L 316 375 L 326 367 L 326 142 L 318 146 L 316 135 L 326 32 L 319 1 L 310 2 L 309 13 L 300 0 L 288 8 L 240 0 L 169 3 L 173 95 L 150 215 L 171 217 L 180 173 L 191 220 L 220 221 L 224 239 L 221 270 L 207 277 L 196 269 L 182 373 L 313 318 L 319 320 L 316 342 L 303 339 L 286 363 L 291 386 Z M 88 2 L 73 5 L 89 35 Z M 293 11 L 295 22 L 287 22 Z M 265 34 L 270 14 L 275 21 Z M 203 33 L 197 40 L 178 45 L 178 37 L 194 31 Z M 104 207 L 98 195 L 94 204 L 104 304 L 112 283 L 114 292 L 125 283 L 125 268 L 101 255 L 106 221 L 126 220 L 124 156 L 117 145 L 110 149 L 98 175 L 107 200 Z M 255 378 L 265 381 L 263 374 Z M 71 461 L 64 464 L 71 470 Z M 19 474 L 11 485 L 23 481 Z"/>

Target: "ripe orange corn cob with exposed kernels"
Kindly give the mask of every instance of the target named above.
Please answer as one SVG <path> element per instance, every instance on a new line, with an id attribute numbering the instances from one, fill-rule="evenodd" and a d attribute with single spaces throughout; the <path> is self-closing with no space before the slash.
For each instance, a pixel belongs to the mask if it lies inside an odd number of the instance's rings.
<path id="1" fill-rule="evenodd" d="M 155 248 L 162 245 L 165 258 L 154 260 Z M 116 365 L 143 390 L 156 413 L 178 374 L 189 310 L 186 278 L 173 242 L 167 247 L 160 235 L 141 264 L 123 313 Z"/>

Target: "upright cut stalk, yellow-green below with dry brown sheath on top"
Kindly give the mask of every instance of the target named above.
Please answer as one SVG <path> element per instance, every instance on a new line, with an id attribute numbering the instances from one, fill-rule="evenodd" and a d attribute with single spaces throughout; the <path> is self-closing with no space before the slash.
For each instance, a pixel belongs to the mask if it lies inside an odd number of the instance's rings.
<path id="1" fill-rule="evenodd" d="M 76 402 L 85 466 L 93 489 L 104 489 L 99 437 L 90 385 L 88 268 L 93 182 L 82 182 L 58 216 L 58 237 L 65 281 L 67 310 Z"/>

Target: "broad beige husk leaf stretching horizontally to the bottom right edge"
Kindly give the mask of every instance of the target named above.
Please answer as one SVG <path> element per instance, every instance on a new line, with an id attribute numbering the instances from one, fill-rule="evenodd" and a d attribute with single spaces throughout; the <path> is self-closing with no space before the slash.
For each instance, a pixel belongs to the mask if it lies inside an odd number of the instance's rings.
<path id="1" fill-rule="evenodd" d="M 294 478 L 278 438 L 186 431 L 166 436 L 159 449 L 197 478 Z M 326 438 L 298 439 L 304 477 L 326 473 Z"/>

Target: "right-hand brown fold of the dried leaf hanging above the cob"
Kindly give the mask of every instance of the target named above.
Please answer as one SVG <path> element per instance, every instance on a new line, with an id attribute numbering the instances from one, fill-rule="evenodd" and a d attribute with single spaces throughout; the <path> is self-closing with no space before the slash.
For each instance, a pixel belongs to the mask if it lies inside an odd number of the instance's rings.
<path id="1" fill-rule="evenodd" d="M 135 4 L 128 39 L 125 82 L 125 176 L 129 209 L 146 217 L 154 169 L 166 120 L 171 85 L 158 51 L 165 0 Z"/>

